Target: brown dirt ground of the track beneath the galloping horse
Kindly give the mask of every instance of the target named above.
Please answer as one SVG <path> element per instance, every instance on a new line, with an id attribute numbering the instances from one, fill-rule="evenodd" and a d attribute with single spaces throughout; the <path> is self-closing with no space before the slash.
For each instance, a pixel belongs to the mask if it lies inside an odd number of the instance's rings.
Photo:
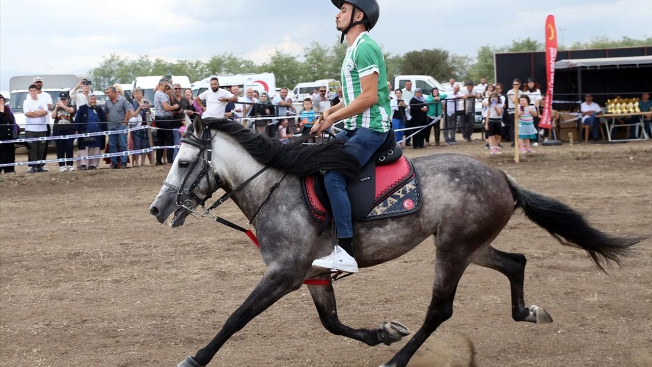
<path id="1" fill-rule="evenodd" d="M 650 142 L 539 147 L 518 165 L 508 149 L 490 157 L 482 145 L 419 153 L 471 155 L 587 212 L 603 231 L 652 234 Z M 0 175 L 0 366 L 175 366 L 215 336 L 265 271 L 240 232 L 191 217 L 170 229 L 148 214 L 168 168 L 50 168 Z M 234 204 L 220 209 L 246 223 Z M 652 240 L 609 276 L 518 212 L 494 245 L 526 255 L 526 302 L 554 323 L 512 321 L 507 279 L 471 266 L 452 319 L 410 366 L 652 366 Z M 433 260 L 428 239 L 336 283 L 340 318 L 417 330 Z M 302 287 L 235 334 L 209 366 L 379 366 L 404 343 L 368 347 L 333 336 Z"/>

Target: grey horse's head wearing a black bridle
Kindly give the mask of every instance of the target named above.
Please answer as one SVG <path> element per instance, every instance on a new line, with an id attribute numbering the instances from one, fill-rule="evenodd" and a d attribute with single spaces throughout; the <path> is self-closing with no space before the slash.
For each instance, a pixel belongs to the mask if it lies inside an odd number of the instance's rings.
<path id="1" fill-rule="evenodd" d="M 149 207 L 149 213 L 159 223 L 164 223 L 174 213 L 170 227 L 183 225 L 188 214 L 203 206 L 222 186 L 213 163 L 214 137 L 200 116 L 188 126 L 168 177 Z"/>

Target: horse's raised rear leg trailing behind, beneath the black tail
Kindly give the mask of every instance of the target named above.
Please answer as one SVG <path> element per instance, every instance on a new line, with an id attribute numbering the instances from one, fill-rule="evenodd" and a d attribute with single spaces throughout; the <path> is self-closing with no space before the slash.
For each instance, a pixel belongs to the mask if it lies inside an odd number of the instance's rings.
<path id="1" fill-rule="evenodd" d="M 473 253 L 473 264 L 497 270 L 509 279 L 512 293 L 512 318 L 516 321 L 530 323 L 552 323 L 550 314 L 539 306 L 526 307 L 523 296 L 523 281 L 526 268 L 526 257 L 522 253 L 509 253 L 485 246 Z"/>

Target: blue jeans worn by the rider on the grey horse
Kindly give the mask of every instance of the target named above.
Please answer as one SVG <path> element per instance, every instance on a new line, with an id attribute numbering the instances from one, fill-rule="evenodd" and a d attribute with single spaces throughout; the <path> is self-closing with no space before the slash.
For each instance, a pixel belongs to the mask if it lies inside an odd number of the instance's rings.
<path id="1" fill-rule="evenodd" d="M 340 131 L 335 138 L 346 141 L 344 150 L 356 157 L 360 167 L 363 167 L 372 154 L 385 142 L 387 133 L 379 133 L 361 127 L 355 130 Z M 329 170 L 324 176 L 324 183 L 331 201 L 338 238 L 353 237 L 351 202 L 346 195 L 346 178 L 340 172 Z"/>

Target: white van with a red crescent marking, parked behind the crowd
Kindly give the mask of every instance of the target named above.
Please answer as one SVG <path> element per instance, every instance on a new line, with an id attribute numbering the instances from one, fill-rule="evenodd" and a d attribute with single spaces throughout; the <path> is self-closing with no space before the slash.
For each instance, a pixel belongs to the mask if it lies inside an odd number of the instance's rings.
<path id="1" fill-rule="evenodd" d="M 192 96 L 197 97 L 203 91 L 211 88 L 211 78 L 207 76 L 202 80 L 196 82 L 192 86 Z M 276 76 L 273 72 L 262 72 L 260 74 L 246 73 L 246 74 L 226 74 L 217 76 L 220 82 L 220 88 L 228 89 L 231 86 L 240 87 L 239 97 L 244 95 L 246 88 L 252 88 L 258 93 L 267 92 L 270 98 L 273 98 L 276 92 Z"/>

